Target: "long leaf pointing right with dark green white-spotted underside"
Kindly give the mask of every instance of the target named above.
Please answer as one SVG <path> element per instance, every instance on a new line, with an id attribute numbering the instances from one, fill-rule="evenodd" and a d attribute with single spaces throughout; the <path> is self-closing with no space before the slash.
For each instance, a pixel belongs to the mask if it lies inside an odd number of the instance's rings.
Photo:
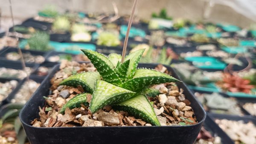
<path id="1" fill-rule="evenodd" d="M 124 89 L 131 90 L 133 92 L 141 90 L 146 86 L 152 84 L 163 84 L 167 82 L 179 81 L 170 75 L 151 69 L 137 69 L 134 73 L 134 77 L 131 80 L 119 85 Z"/>

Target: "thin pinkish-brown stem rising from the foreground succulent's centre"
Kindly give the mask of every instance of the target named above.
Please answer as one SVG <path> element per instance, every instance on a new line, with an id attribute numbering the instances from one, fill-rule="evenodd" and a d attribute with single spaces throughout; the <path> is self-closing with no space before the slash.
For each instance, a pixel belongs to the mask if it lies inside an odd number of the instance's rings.
<path id="1" fill-rule="evenodd" d="M 132 6 L 131 16 L 130 16 L 130 19 L 129 19 L 129 23 L 128 23 L 128 27 L 127 27 L 127 32 L 126 32 L 126 35 L 125 35 L 125 42 L 124 42 L 124 47 L 123 47 L 123 52 L 122 52 L 121 63 L 123 63 L 124 60 L 125 60 L 125 53 L 126 53 L 126 47 L 127 47 L 127 43 L 128 43 L 130 29 L 131 29 L 131 23 L 132 23 L 132 20 L 133 20 L 133 17 L 134 17 L 134 12 L 135 12 L 135 9 L 136 9 L 138 1 L 139 0 L 134 0 L 134 5 Z"/>

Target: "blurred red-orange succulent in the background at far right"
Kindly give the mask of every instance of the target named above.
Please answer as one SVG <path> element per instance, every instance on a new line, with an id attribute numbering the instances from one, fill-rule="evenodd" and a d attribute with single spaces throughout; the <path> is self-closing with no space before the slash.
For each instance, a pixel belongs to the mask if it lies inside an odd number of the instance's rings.
<path id="1" fill-rule="evenodd" d="M 218 81 L 217 85 L 230 92 L 251 93 L 254 88 L 253 85 L 250 85 L 250 80 L 229 73 L 224 73 L 222 81 Z"/>

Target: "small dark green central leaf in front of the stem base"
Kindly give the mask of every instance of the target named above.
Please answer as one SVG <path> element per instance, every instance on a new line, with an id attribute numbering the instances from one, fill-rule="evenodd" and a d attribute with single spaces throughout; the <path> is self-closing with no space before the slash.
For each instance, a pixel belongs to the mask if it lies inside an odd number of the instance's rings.
<path id="1" fill-rule="evenodd" d="M 128 66 L 129 66 L 129 63 L 130 63 L 130 60 L 126 60 L 125 62 L 119 64 L 117 64 L 116 66 L 116 69 L 115 69 L 115 72 L 116 72 L 116 75 L 118 75 L 119 79 L 122 81 L 122 82 L 125 82 L 127 81 L 127 72 L 128 72 Z"/>

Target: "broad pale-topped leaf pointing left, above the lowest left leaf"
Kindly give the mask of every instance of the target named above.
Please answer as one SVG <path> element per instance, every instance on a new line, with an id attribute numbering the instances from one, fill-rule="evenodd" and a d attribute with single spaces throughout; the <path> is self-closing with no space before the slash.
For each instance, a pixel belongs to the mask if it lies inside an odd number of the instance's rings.
<path id="1" fill-rule="evenodd" d="M 93 93 L 93 88 L 96 80 L 100 80 L 99 72 L 83 72 L 76 75 L 71 75 L 63 80 L 60 85 L 75 86 L 81 85 L 85 92 Z"/>

